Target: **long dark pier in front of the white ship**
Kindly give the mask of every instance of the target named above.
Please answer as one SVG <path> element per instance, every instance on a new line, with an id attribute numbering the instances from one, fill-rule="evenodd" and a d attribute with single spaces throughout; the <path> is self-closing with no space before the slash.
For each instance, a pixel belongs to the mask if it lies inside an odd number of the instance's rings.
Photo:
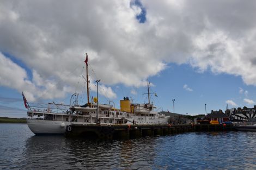
<path id="1" fill-rule="evenodd" d="M 142 136 L 171 135 L 192 131 L 231 131 L 232 124 L 196 124 L 196 125 L 81 125 L 66 127 L 66 137 L 129 139 Z"/>

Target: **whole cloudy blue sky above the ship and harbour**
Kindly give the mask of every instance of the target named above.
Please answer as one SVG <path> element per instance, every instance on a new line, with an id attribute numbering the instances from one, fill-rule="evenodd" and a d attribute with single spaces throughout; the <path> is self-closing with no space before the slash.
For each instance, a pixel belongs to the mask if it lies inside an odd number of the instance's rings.
<path id="1" fill-rule="evenodd" d="M 255 1 L 1 1 L 0 117 L 26 117 L 22 91 L 86 103 L 86 53 L 100 103 L 147 103 L 149 79 L 159 111 L 253 107 L 255 16 Z"/>

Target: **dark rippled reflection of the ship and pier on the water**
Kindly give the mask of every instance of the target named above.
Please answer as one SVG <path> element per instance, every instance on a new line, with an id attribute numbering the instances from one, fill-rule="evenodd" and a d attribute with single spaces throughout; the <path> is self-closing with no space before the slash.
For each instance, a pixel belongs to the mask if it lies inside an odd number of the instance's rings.
<path id="1" fill-rule="evenodd" d="M 24 169 L 139 169 L 155 160 L 154 137 L 123 141 L 66 139 L 63 136 L 32 136 L 25 145 Z"/>

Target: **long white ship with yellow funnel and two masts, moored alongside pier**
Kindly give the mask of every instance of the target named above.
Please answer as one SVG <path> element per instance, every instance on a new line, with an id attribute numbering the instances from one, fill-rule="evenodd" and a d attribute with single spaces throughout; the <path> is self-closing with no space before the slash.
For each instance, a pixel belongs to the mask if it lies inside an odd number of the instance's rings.
<path id="1" fill-rule="evenodd" d="M 86 65 L 88 56 L 86 55 Z M 27 110 L 27 124 L 36 135 L 64 134 L 70 124 L 168 124 L 169 116 L 160 115 L 155 106 L 150 104 L 148 85 L 148 104 L 133 104 L 128 97 L 120 100 L 120 109 L 110 104 L 97 104 L 97 99 L 89 101 L 87 65 L 87 104 L 77 105 L 78 94 L 74 93 L 70 105 L 47 103 L 40 106 L 29 106 L 25 96 L 24 103 Z M 76 98 L 73 104 L 72 99 Z M 70 129 L 71 130 L 71 129 Z"/>

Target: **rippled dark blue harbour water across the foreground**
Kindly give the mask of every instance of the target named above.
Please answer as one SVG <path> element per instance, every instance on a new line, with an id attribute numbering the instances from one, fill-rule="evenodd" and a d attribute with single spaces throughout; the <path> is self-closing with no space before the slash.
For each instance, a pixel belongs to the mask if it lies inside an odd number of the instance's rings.
<path id="1" fill-rule="evenodd" d="M 0 169 L 256 169 L 256 133 L 89 141 L 0 124 Z"/>

